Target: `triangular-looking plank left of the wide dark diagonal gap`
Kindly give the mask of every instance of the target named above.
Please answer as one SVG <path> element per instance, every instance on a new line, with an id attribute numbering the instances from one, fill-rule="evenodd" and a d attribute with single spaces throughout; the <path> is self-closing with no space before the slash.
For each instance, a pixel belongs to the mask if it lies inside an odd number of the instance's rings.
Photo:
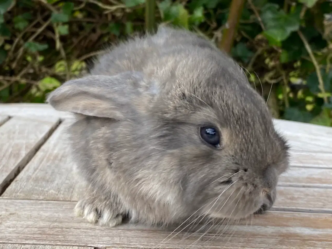
<path id="1" fill-rule="evenodd" d="M 55 117 L 14 117 L 0 126 L 0 194 L 55 129 Z"/>

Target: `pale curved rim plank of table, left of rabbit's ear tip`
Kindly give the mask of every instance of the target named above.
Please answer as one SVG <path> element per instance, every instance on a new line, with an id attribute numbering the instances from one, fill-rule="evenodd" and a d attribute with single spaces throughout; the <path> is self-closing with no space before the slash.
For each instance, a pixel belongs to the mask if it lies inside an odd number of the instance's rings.
<path id="1" fill-rule="evenodd" d="M 42 103 L 0 104 L 0 114 L 11 117 L 53 116 L 60 119 L 73 118 L 73 115 L 71 113 L 56 111 L 50 105 Z"/>

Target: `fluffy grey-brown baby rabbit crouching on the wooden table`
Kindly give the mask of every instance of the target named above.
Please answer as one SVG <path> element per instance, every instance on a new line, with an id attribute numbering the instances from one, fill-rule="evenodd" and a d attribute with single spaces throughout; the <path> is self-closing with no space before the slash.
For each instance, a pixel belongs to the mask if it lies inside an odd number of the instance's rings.
<path id="1" fill-rule="evenodd" d="M 181 28 L 127 39 L 47 96 L 86 183 L 77 216 L 101 226 L 242 219 L 269 210 L 289 145 L 238 64 Z"/>

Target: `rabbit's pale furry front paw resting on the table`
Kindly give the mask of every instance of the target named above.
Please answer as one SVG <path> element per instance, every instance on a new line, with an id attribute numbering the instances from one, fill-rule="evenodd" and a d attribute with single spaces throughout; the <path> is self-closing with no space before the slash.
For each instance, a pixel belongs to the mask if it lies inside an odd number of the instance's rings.
<path id="1" fill-rule="evenodd" d="M 95 198 L 86 198 L 78 201 L 74 212 L 76 216 L 83 216 L 90 223 L 113 227 L 121 224 L 124 217 L 124 213 L 120 212 L 117 206 Z"/>

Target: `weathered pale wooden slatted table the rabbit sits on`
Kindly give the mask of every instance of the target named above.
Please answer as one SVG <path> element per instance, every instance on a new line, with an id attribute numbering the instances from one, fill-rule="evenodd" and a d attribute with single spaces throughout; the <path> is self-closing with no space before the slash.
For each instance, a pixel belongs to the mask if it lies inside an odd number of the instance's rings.
<path id="1" fill-rule="evenodd" d="M 0 105 L 0 248 L 156 248 L 169 233 L 74 216 L 82 185 L 62 133 L 71 122 L 44 104 Z M 332 248 L 332 128 L 280 120 L 276 127 L 292 158 L 273 210 L 233 226 L 232 236 L 208 232 L 194 243 L 201 234 L 180 233 L 161 248 Z"/>

